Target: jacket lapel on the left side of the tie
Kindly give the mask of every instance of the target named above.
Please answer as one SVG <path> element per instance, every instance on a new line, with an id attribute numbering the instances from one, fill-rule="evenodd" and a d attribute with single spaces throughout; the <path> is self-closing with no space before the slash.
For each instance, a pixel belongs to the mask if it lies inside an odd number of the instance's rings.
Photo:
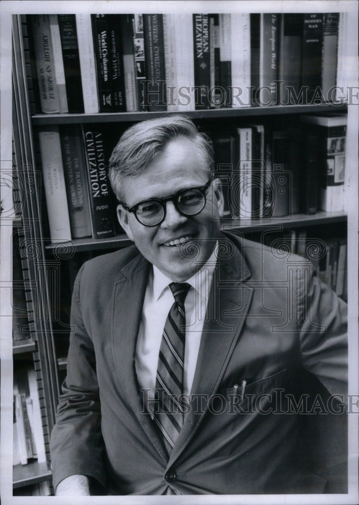
<path id="1" fill-rule="evenodd" d="M 138 255 L 121 272 L 113 297 L 112 344 L 120 383 L 138 422 L 161 458 L 167 462 L 164 443 L 142 403 L 135 369 L 136 341 L 150 264 Z"/>

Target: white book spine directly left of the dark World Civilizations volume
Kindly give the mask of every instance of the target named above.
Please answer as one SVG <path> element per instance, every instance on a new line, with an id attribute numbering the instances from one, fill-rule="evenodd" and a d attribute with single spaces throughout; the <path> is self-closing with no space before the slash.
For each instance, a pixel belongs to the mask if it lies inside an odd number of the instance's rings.
<path id="1" fill-rule="evenodd" d="M 85 114 L 98 113 L 98 92 L 90 14 L 75 14 Z"/>

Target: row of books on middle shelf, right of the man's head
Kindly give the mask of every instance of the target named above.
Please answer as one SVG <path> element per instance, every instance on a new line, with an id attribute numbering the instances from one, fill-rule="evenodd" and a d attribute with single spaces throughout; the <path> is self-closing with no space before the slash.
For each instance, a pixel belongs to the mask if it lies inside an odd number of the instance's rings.
<path id="1" fill-rule="evenodd" d="M 214 139 L 225 219 L 285 218 L 344 208 L 346 117 L 252 122 Z"/>

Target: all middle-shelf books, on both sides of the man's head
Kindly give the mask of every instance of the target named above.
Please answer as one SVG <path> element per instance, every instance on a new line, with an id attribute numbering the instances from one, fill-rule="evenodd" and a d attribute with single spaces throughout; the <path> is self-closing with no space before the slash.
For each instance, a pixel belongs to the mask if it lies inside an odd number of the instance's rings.
<path id="1" fill-rule="evenodd" d="M 215 134 L 215 176 L 222 180 L 225 220 L 343 211 L 346 116 L 300 119 L 302 125 L 253 122 Z M 116 140 L 107 127 L 94 125 L 39 131 L 52 242 L 122 232 L 108 179 Z"/>

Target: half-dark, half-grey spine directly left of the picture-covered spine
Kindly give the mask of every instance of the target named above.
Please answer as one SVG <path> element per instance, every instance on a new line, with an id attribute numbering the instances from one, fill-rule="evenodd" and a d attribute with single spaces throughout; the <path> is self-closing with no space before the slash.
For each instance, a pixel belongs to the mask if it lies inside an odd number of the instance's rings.
<path id="1" fill-rule="evenodd" d="M 132 16 L 130 14 L 121 15 L 121 42 L 123 50 L 124 85 L 126 95 L 127 112 L 138 110 L 136 92 L 135 58 L 132 40 Z"/>

